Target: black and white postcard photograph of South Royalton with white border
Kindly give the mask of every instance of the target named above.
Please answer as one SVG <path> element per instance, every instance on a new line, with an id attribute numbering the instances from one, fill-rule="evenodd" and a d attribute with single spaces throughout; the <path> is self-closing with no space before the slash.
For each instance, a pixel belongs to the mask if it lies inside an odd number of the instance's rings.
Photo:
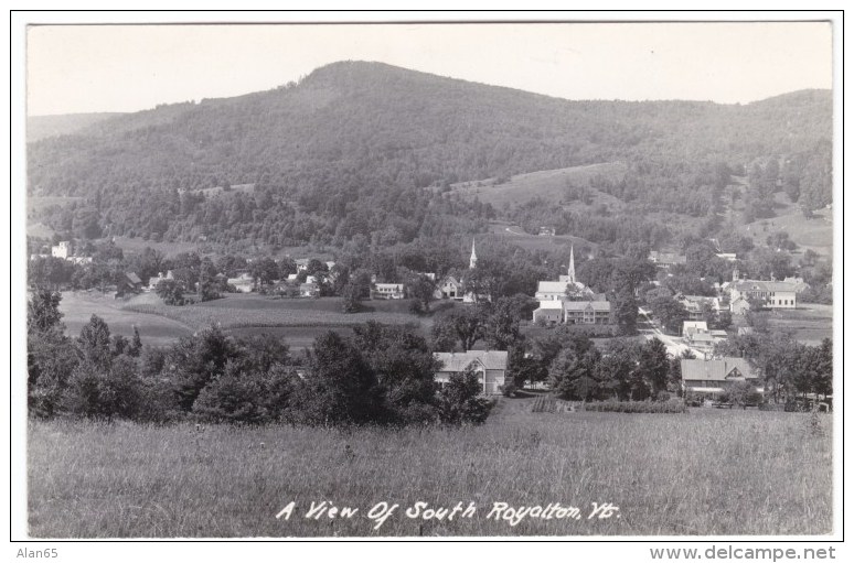
<path id="1" fill-rule="evenodd" d="M 21 33 L 22 539 L 841 534 L 840 21 L 168 15 Z"/>

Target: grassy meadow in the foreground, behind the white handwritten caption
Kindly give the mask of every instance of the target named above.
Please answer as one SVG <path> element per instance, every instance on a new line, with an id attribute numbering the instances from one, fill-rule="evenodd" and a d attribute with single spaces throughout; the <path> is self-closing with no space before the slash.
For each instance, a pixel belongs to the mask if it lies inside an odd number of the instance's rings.
<path id="1" fill-rule="evenodd" d="M 532 413 L 502 400 L 462 429 L 167 427 L 31 422 L 35 538 L 823 534 L 828 415 Z M 348 445 L 350 448 L 348 448 Z M 305 518 L 323 500 L 359 511 Z M 276 515 L 290 502 L 289 520 Z M 378 530 L 381 501 L 401 507 Z M 472 518 L 407 518 L 417 501 Z M 579 519 L 488 519 L 493 502 L 561 502 Z M 619 507 L 588 520 L 591 502 Z M 506 512 L 505 512 L 506 513 Z"/>

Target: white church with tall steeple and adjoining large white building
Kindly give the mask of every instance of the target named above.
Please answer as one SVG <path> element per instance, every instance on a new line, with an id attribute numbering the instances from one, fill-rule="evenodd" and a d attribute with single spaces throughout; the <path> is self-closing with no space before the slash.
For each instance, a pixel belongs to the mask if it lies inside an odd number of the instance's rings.
<path id="1" fill-rule="evenodd" d="M 575 279 L 575 248 L 569 249 L 569 268 L 557 281 L 541 281 L 534 297 L 540 306 L 533 321 L 540 324 L 612 324 L 611 303 Z"/>

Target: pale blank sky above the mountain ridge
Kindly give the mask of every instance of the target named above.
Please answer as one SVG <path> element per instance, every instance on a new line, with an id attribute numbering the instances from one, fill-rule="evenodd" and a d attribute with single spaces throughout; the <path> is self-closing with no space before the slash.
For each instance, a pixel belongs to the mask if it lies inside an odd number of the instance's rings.
<path id="1" fill-rule="evenodd" d="M 28 115 L 137 111 L 380 61 L 567 99 L 746 104 L 832 87 L 824 22 L 31 25 Z"/>

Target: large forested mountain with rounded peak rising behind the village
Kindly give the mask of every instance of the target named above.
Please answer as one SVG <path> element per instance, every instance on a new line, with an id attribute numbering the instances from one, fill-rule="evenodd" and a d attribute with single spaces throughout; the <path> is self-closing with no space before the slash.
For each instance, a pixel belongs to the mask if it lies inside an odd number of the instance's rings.
<path id="1" fill-rule="evenodd" d="M 570 101 L 342 62 L 299 84 L 119 115 L 31 142 L 28 190 L 87 199 L 73 212 L 46 212 L 57 230 L 85 224 L 89 232 L 269 245 L 339 243 L 357 234 L 409 241 L 480 228 L 477 220 L 495 213 L 437 199 L 427 186 L 621 162 L 628 180 L 598 190 L 652 206 L 698 198 L 683 207 L 703 215 L 714 197 L 701 188 L 714 184 L 716 166 L 815 160 L 831 139 L 830 91 L 744 106 Z M 247 184 L 254 193 L 204 195 Z"/>

